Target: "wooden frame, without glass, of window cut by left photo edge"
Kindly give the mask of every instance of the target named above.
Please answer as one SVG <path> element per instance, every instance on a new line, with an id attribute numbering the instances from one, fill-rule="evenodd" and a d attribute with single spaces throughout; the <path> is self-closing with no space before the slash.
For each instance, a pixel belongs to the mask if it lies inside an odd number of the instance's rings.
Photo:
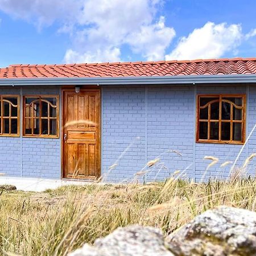
<path id="1" fill-rule="evenodd" d="M 3 100 L 2 98 L 12 98 L 15 97 L 17 98 L 17 117 L 11 118 L 11 112 L 9 117 L 3 117 L 2 116 L 2 111 L 3 111 Z M 0 94 L 0 104 L 1 104 L 1 112 L 0 112 L 0 137 L 20 137 L 20 96 L 19 94 Z M 17 134 L 7 134 L 7 133 L 2 133 L 2 127 L 3 127 L 3 119 L 17 119 Z M 10 121 L 9 121 L 10 122 Z"/>

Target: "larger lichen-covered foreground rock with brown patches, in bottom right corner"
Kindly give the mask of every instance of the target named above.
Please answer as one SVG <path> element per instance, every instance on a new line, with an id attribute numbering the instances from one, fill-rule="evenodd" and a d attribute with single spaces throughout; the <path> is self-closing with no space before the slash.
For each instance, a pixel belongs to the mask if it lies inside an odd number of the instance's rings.
<path id="1" fill-rule="evenodd" d="M 207 210 L 171 234 L 166 244 L 175 255 L 256 255 L 256 213 L 232 207 Z"/>

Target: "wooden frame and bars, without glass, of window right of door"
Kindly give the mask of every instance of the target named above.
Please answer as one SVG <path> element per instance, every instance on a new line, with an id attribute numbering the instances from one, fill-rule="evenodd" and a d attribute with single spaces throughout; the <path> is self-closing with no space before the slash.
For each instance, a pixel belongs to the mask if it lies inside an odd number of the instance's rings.
<path id="1" fill-rule="evenodd" d="M 221 108 L 219 108 L 219 116 L 218 119 L 210 119 L 209 109 L 208 109 L 208 124 L 209 122 L 218 122 L 219 125 L 219 138 L 218 140 L 215 139 L 199 139 L 199 123 L 200 120 L 200 98 L 214 98 L 218 97 L 218 101 L 221 104 L 221 99 L 224 97 L 239 97 L 242 98 L 242 120 L 233 120 L 232 116 L 230 116 L 230 120 L 225 120 L 221 118 Z M 233 111 L 232 111 L 233 112 Z M 205 119 L 206 120 L 206 119 Z M 228 122 L 230 123 L 230 140 L 221 140 L 221 123 Z M 233 137 L 233 123 L 241 123 L 241 141 L 233 141 L 231 138 Z M 209 125 L 208 125 L 208 138 L 209 138 Z M 196 143 L 216 143 L 216 144 L 244 144 L 245 143 L 245 133 L 246 133 L 246 94 L 197 94 L 196 97 Z"/>

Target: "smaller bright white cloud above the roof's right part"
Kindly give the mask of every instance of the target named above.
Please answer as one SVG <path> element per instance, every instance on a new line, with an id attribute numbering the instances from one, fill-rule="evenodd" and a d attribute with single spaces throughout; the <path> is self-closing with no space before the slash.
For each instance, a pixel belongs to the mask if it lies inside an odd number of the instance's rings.
<path id="1" fill-rule="evenodd" d="M 166 60 L 211 59 L 236 51 L 241 44 L 242 28 L 240 24 L 214 24 L 207 22 L 196 28 L 187 37 L 179 40 L 176 48 L 166 55 Z"/>

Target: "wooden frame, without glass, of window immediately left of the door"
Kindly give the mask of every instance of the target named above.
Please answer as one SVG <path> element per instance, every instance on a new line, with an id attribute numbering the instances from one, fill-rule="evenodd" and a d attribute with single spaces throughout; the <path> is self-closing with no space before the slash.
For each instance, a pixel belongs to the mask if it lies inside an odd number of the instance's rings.
<path id="1" fill-rule="evenodd" d="M 56 98 L 56 118 L 43 118 L 43 119 L 56 119 L 56 135 L 51 134 L 26 134 L 26 98 L 36 98 L 39 97 L 39 100 L 42 98 Z M 23 118 L 22 118 L 22 137 L 24 138 L 50 138 L 50 139 L 58 139 L 60 138 L 60 118 L 59 118 L 59 111 L 60 111 L 60 98 L 59 94 L 30 94 L 30 95 L 23 95 Z M 33 119 L 33 118 L 31 118 Z M 34 118 L 36 119 L 36 118 Z M 40 121 L 42 120 L 42 115 L 38 118 Z M 40 132 L 40 131 L 39 131 Z"/>

